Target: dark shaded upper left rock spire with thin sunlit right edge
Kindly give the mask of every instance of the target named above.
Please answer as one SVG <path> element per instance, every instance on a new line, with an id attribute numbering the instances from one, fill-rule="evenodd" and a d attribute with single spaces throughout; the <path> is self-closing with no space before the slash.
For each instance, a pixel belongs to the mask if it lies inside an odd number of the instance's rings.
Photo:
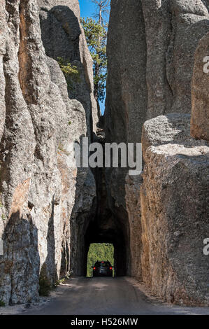
<path id="1" fill-rule="evenodd" d="M 84 31 L 80 25 L 78 0 L 38 0 L 40 6 L 41 35 L 46 55 L 57 60 L 69 60 L 78 67 L 80 78 L 69 88 L 69 97 L 78 99 L 86 113 L 87 134 L 96 131 L 97 107 L 94 99 L 92 57 Z M 78 19 L 79 18 L 79 19 Z"/>

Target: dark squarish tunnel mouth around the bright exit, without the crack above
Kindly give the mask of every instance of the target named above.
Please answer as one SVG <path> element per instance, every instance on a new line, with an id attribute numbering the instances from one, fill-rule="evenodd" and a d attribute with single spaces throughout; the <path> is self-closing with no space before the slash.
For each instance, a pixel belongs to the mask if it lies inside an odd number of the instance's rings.
<path id="1" fill-rule="evenodd" d="M 87 276 L 88 253 L 92 244 L 112 244 L 114 276 L 131 275 L 130 234 L 127 218 L 117 217 L 111 214 L 111 211 L 107 216 L 79 217 L 72 225 L 71 232 L 73 234 L 71 235 L 70 270 L 74 276 Z"/>

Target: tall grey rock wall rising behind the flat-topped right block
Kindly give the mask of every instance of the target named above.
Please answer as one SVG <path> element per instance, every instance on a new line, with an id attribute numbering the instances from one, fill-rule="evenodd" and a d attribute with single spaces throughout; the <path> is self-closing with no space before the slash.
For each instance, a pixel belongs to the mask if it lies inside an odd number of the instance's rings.
<path id="1" fill-rule="evenodd" d="M 207 1 L 111 1 L 106 141 L 140 142 L 145 120 L 191 113 L 194 52 L 208 29 Z M 124 208 L 126 175 L 107 172 Z"/>

